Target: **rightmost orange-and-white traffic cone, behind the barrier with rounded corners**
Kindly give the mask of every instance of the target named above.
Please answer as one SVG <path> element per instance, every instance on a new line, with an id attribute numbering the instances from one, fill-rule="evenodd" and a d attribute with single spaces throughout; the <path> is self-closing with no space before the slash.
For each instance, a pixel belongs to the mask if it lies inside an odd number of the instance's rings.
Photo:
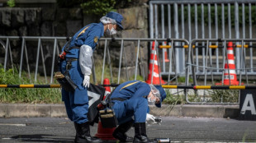
<path id="1" fill-rule="evenodd" d="M 234 52 L 233 52 L 233 43 L 229 42 L 227 45 L 227 60 L 229 62 L 229 66 L 227 62 L 225 62 L 225 71 L 224 71 L 224 85 L 239 85 L 239 81 L 236 78 L 235 72 L 235 60 L 234 60 Z M 230 71 L 230 75 L 229 75 Z M 216 85 L 221 85 L 221 83 L 217 83 Z M 242 85 L 244 85 L 242 83 Z"/>

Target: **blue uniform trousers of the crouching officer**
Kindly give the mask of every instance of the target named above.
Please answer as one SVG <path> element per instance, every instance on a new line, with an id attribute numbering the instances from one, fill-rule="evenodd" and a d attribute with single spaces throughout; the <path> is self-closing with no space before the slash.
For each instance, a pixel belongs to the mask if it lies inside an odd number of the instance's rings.
<path id="1" fill-rule="evenodd" d="M 114 100 L 112 107 L 116 113 L 119 124 L 132 120 L 134 116 L 135 122 L 145 122 L 148 110 L 148 100 L 140 98 L 130 98 L 124 101 Z"/>

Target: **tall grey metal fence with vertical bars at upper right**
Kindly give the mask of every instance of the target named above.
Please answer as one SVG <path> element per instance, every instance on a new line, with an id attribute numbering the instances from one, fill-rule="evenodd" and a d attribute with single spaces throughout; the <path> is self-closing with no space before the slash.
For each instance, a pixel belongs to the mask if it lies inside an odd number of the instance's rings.
<path id="1" fill-rule="evenodd" d="M 149 1 L 150 38 L 187 39 L 188 41 L 192 39 L 255 39 L 255 4 L 254 0 L 151 0 Z M 182 56 L 184 49 L 175 50 L 179 55 L 176 59 L 177 72 L 184 73 L 186 66 L 182 64 L 183 62 L 178 64 L 184 60 Z M 204 50 L 202 49 L 202 53 L 205 53 Z M 163 58 L 164 52 L 163 50 Z M 219 52 L 216 48 L 217 65 L 220 62 L 217 58 Z M 202 56 L 198 49 L 195 53 Z M 250 53 L 255 53 L 255 50 L 250 48 Z M 241 56 L 240 48 L 235 48 L 235 56 Z M 164 61 L 162 64 L 164 65 Z M 238 68 L 241 67 L 239 58 L 235 59 L 235 64 Z M 167 74 L 164 70 L 162 73 Z M 256 72 L 251 74 L 256 75 Z"/>

